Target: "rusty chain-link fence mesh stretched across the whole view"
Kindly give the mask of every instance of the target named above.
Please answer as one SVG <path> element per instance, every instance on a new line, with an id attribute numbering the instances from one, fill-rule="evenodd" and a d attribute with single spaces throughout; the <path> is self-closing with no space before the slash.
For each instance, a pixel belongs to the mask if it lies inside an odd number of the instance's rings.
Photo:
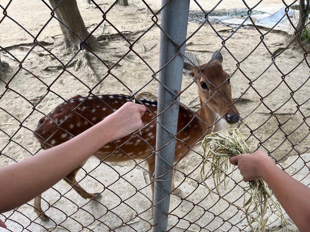
<path id="1" fill-rule="evenodd" d="M 200 141 L 214 124 L 216 130 L 229 126 L 237 114 L 252 151 L 268 153 L 309 185 L 310 67 L 299 37 L 307 23 L 297 28 L 299 20 L 292 17 L 299 2 L 191 1 L 187 28 L 175 26 L 186 16 L 178 13 L 188 14 L 187 1 L 185 11 L 173 0 L 128 2 L 0 3 L 0 166 L 70 139 L 126 101 L 148 108 L 141 131 L 107 144 L 96 153 L 99 159 L 90 158 L 35 204 L 2 213 L 8 228 L 0 231 L 251 231 L 244 210 L 223 199 L 243 204 L 247 183 L 239 172 L 229 170 L 221 197 L 212 176 L 205 180 L 209 191 L 200 175 Z M 165 15 L 173 17 L 161 21 Z M 190 65 L 182 83 L 167 84 L 166 76 L 180 76 L 184 57 Z M 213 73 L 212 63 L 217 64 Z M 203 84 L 197 86 L 194 67 L 201 70 L 201 82 L 215 87 L 212 94 L 220 103 L 210 100 Z M 222 89 L 227 92 L 230 85 L 232 96 L 224 96 Z M 171 115 L 179 118 L 178 127 L 166 128 L 165 120 L 176 125 L 165 114 L 178 104 L 179 115 Z M 58 117 L 57 105 L 73 120 Z M 39 122 L 47 127 L 36 129 Z M 175 159 L 163 161 L 174 150 Z M 166 167 L 158 165 L 161 161 Z M 169 176 L 160 168 L 170 170 Z M 175 187 L 166 198 L 158 189 L 162 179 L 171 181 L 172 170 Z M 267 226 L 287 231 L 274 214 Z"/>

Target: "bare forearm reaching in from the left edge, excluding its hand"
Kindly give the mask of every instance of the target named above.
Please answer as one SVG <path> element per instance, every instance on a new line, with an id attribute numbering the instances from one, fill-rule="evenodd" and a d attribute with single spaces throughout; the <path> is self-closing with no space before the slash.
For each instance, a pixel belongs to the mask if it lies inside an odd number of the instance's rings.
<path id="1" fill-rule="evenodd" d="M 69 174 L 113 138 L 109 127 L 100 122 L 64 144 L 0 168 L 0 213 L 31 200 Z"/>

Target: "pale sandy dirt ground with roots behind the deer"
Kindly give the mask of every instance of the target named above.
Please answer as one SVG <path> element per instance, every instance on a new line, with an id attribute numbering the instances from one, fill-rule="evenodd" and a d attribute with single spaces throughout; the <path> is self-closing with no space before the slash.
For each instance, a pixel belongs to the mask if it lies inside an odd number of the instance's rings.
<path id="1" fill-rule="evenodd" d="M 7 6 L 7 0 L 1 0 L 0 5 Z M 105 11 L 114 1 L 97 1 Z M 158 11 L 161 2 L 146 1 L 154 11 Z M 211 10 L 217 1 L 197 1 L 206 11 Z M 254 0 L 246 1 L 252 7 Z M 102 14 L 94 4 L 78 0 L 82 18 L 92 31 L 102 20 Z M 244 8 L 242 1 L 223 1 L 216 10 Z M 280 0 L 261 2 L 255 9 L 258 11 L 276 12 L 283 7 Z M 191 1 L 191 11 L 199 10 Z M 41 1 L 13 1 L 7 9 L 7 15 L 15 19 L 36 37 L 43 26 L 50 19 L 50 10 Z M 158 15 L 160 20 L 160 15 Z M 7 62 L 6 69 L 0 81 L 0 166 L 20 161 L 40 148 L 33 137 L 42 113 L 48 114 L 63 100 L 57 95 L 68 99 L 77 94 L 86 96 L 91 90 L 93 94 L 129 94 L 146 91 L 157 95 L 157 81 L 152 75 L 158 71 L 160 29 L 153 26 L 152 12 L 142 1 L 129 0 L 129 6 L 114 6 L 107 14 L 108 22 L 104 22 L 93 33 L 99 35 L 114 35 L 117 31 L 135 32 L 129 36 L 129 41 L 135 41 L 146 29 L 147 33 L 133 45 L 129 52 L 129 44 L 121 37 L 113 37 L 102 42 L 102 51 L 96 53 L 102 60 L 112 67 L 107 75 L 105 67 L 94 56 L 91 56 L 93 70 L 78 62 L 67 68 L 69 72 L 62 73 L 62 69 L 51 68 L 60 63 L 44 49 L 36 46 L 29 53 L 33 44 L 33 37 L 21 29 L 11 19 L 6 17 L 0 24 L 0 46 L 7 48 L 15 58 L 1 51 L 2 62 Z M 248 143 L 252 150 L 270 152 L 275 160 L 284 162 L 288 157 L 307 153 L 309 149 L 308 116 L 310 113 L 309 95 L 309 65 L 304 58 L 304 51 L 296 45 L 290 45 L 277 58 L 272 60 L 270 52 L 285 48 L 289 42 L 289 35 L 284 31 L 271 31 L 269 28 L 241 27 L 234 33 L 236 25 L 213 24 L 217 35 L 210 25 L 188 23 L 188 40 L 186 51 L 193 52 L 199 64 L 210 60 L 213 52 L 222 47 L 223 68 L 232 74 L 232 97 L 238 99 L 236 106 L 246 127 L 243 132 L 249 137 Z M 227 39 L 228 38 L 228 39 Z M 226 40 L 227 39 L 227 40 Z M 52 19 L 38 36 L 38 41 L 44 41 L 48 48 L 63 63 L 69 62 L 73 54 L 66 52 L 62 45 L 62 34 L 58 21 Z M 229 51 L 229 52 L 228 52 Z M 83 50 L 71 62 L 81 60 L 85 56 Z M 141 58 L 136 56 L 138 53 Z M 233 55 L 233 57 L 232 57 Z M 22 62 L 20 69 L 16 59 Z M 147 65 L 146 65 L 147 63 Z M 238 63 L 238 64 L 237 64 Z M 32 75 L 33 74 L 33 75 Z M 61 74 L 61 75 L 60 75 Z M 35 77 L 36 76 L 36 77 Z M 37 77 L 39 79 L 37 79 Z M 120 83 L 120 79 L 124 84 Z M 158 74 L 156 75 L 158 77 Z M 101 81 L 100 84 L 99 81 Z M 150 84 L 146 85 L 149 81 Z M 197 87 L 188 87 L 191 80 L 184 77 L 182 81 L 181 102 L 193 110 L 198 110 Z M 126 87 L 124 86 L 126 85 Z M 47 91 L 49 87 L 50 91 Z M 33 110 L 32 104 L 37 104 L 42 97 L 44 100 Z M 270 114 L 272 112 L 273 114 Z M 93 161 L 91 161 L 93 162 Z M 195 185 L 193 179 L 198 179 L 201 156 L 193 153 L 179 163 L 178 169 L 188 174 L 186 183 Z M 112 163 L 115 167 L 133 166 L 131 162 Z M 117 166 L 116 166 L 117 165 Z M 193 170 L 196 169 L 194 172 Z M 143 172 L 143 169 L 140 169 Z M 144 172 L 145 174 L 145 172 Z M 176 177 L 181 183 L 182 178 Z M 7 215 L 8 216 L 8 215 Z M 2 231 L 0 229 L 0 231 Z M 16 230 L 17 231 L 17 230 Z M 33 230 L 35 231 L 35 230 Z M 73 230 L 74 231 L 74 230 Z M 141 230 L 142 231 L 142 230 Z M 181 231 L 181 230 L 175 230 Z"/>

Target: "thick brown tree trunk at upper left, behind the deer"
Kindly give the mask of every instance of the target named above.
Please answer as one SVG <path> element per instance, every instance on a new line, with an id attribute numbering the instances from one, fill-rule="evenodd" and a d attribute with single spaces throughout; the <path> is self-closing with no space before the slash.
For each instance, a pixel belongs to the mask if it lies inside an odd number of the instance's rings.
<path id="1" fill-rule="evenodd" d="M 60 0 L 49 0 L 51 6 L 55 9 Z M 80 48 L 80 43 L 89 35 L 76 0 L 65 0 L 55 9 L 57 18 L 63 23 L 60 24 L 60 29 L 64 36 L 64 44 L 72 51 L 77 51 Z M 64 24 L 66 26 L 64 26 Z M 70 28 L 70 30 L 68 29 Z M 94 36 L 90 36 L 86 45 L 88 48 L 94 50 L 99 47 L 98 42 Z"/>

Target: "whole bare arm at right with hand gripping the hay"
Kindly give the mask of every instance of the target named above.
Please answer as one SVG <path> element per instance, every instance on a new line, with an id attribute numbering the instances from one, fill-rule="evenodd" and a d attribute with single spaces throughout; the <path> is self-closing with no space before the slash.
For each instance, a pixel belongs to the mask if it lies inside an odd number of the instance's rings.
<path id="1" fill-rule="evenodd" d="M 310 230 L 310 188 L 281 170 L 267 154 L 256 151 L 231 157 L 244 181 L 263 178 L 300 232 Z"/>

